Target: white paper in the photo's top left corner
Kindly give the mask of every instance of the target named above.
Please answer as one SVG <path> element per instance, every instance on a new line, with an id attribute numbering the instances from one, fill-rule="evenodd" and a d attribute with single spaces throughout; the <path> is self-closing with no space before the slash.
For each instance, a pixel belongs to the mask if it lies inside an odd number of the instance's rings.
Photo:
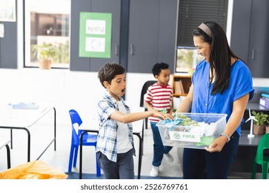
<path id="1" fill-rule="evenodd" d="M 16 21 L 16 0 L 0 0 L 0 21 Z"/>

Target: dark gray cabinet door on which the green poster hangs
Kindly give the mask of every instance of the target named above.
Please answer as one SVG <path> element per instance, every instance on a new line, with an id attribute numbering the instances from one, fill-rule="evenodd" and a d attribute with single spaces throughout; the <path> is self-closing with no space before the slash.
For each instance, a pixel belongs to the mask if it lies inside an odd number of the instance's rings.
<path id="1" fill-rule="evenodd" d="M 110 59 L 79 57 L 79 14 L 80 12 L 112 13 L 112 39 Z M 108 62 L 119 63 L 121 26 L 121 0 L 72 0 L 70 32 L 70 70 L 98 72 Z"/>

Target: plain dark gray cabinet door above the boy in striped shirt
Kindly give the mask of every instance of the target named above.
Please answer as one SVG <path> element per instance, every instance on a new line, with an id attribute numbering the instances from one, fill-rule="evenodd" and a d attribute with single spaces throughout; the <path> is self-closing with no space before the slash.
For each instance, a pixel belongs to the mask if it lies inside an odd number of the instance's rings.
<path id="1" fill-rule="evenodd" d="M 173 72 L 177 0 L 130 0 L 128 72 L 151 73 L 157 62 Z"/>

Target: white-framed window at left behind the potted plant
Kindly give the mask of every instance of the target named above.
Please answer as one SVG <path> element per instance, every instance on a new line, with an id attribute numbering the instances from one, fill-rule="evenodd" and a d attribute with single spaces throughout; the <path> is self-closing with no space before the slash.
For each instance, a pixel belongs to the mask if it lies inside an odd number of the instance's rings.
<path id="1" fill-rule="evenodd" d="M 69 68 L 71 0 L 24 0 L 24 67 L 38 67 L 31 45 L 54 46 L 52 68 Z"/>

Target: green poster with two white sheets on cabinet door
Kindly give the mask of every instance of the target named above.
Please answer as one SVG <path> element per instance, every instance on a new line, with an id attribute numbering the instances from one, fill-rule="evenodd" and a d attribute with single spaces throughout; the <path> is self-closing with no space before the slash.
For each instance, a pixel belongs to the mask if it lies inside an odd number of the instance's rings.
<path id="1" fill-rule="evenodd" d="M 112 14 L 81 12 L 79 57 L 110 58 Z"/>

